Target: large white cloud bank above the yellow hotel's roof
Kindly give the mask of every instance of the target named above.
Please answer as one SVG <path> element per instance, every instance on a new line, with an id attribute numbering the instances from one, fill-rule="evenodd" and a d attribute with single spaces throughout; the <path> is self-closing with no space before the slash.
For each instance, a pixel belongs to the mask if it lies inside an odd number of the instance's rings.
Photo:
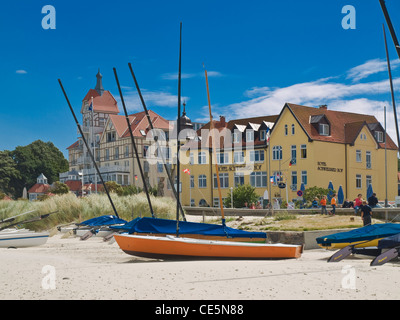
<path id="1" fill-rule="evenodd" d="M 400 61 L 392 62 L 393 65 L 400 66 Z M 383 126 L 383 107 L 386 106 L 387 131 L 397 143 L 389 80 L 385 77 L 380 81 L 357 82 L 381 71 L 387 71 L 386 62 L 374 59 L 346 73 L 347 79 L 352 80 L 350 84 L 341 82 L 340 77 L 329 77 L 282 88 L 253 87 L 244 93 L 248 100 L 226 106 L 214 105 L 213 114 L 226 115 L 230 120 L 279 114 L 286 102 L 310 107 L 327 104 L 330 110 L 374 115 Z M 398 92 L 400 78 L 394 78 L 393 85 L 395 92 Z M 399 97 L 395 98 L 398 101 Z M 198 119 L 206 120 L 206 113 L 208 108 L 202 110 Z"/>

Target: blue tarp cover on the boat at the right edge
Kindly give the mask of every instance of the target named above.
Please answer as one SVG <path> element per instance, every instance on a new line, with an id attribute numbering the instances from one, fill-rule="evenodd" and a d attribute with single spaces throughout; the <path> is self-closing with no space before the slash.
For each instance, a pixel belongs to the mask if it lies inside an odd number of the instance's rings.
<path id="1" fill-rule="evenodd" d="M 377 223 L 347 232 L 334 233 L 329 236 L 317 238 L 317 243 L 341 243 L 373 240 L 377 238 L 389 237 L 400 233 L 400 224 Z"/>

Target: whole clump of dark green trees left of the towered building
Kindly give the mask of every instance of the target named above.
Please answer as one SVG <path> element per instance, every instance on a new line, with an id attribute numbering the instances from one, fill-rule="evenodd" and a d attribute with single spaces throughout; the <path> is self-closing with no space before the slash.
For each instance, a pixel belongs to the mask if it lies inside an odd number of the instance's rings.
<path id="1" fill-rule="evenodd" d="M 59 180 L 60 172 L 68 170 L 68 160 L 52 142 L 36 140 L 12 151 L 0 151 L 0 192 L 17 199 L 41 173 L 52 184 Z"/>

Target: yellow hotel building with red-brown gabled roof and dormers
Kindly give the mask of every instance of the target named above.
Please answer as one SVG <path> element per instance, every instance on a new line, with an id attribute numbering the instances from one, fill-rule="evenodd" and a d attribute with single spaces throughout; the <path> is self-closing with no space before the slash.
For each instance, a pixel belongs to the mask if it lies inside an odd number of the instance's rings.
<path id="1" fill-rule="evenodd" d="M 336 191 L 342 186 L 345 199 L 360 193 L 365 199 L 369 184 L 380 200 L 386 185 L 388 199 L 397 196 L 398 149 L 388 135 L 385 148 L 384 128 L 374 116 L 286 103 L 279 115 L 213 123 L 223 198 L 250 184 L 261 200 L 271 184 L 272 198 L 292 201 L 302 183 L 328 188 L 329 182 Z M 190 172 L 181 174 L 182 204 L 219 206 L 209 123 L 197 133 L 198 141 L 181 147 L 181 169 Z M 270 183 L 278 175 L 287 190 Z"/>

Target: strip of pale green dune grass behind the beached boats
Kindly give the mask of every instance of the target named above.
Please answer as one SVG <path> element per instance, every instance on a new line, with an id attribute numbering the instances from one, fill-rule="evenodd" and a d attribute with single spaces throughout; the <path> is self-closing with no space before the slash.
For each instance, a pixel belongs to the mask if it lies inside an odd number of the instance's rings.
<path id="1" fill-rule="evenodd" d="M 150 209 L 146 196 L 141 194 L 118 196 L 111 194 L 120 218 L 130 221 L 138 216 L 150 217 Z M 158 218 L 173 219 L 176 212 L 176 202 L 169 197 L 153 197 L 151 203 Z M 24 225 L 32 230 L 49 230 L 55 226 L 81 222 L 106 214 L 114 214 L 106 195 L 92 194 L 88 197 L 77 198 L 73 194 L 56 195 L 44 201 L 0 201 L 0 220 L 24 212 L 35 210 L 18 221 L 58 211 L 48 218 Z"/>

